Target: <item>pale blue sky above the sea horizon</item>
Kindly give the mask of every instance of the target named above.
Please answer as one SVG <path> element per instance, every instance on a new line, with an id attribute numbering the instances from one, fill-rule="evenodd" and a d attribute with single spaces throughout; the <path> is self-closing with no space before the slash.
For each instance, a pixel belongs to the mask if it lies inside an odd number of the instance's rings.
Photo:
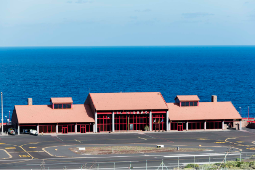
<path id="1" fill-rule="evenodd" d="M 255 0 L 1 0 L 0 46 L 255 45 Z"/>

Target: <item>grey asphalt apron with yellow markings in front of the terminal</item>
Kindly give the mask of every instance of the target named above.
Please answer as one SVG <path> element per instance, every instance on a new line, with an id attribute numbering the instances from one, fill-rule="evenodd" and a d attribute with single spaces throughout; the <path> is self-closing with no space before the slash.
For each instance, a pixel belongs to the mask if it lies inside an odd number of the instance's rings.
<path id="1" fill-rule="evenodd" d="M 201 148 L 211 151 L 141 153 L 119 155 L 76 155 L 68 148 L 77 146 L 156 146 Z M 55 149 L 58 149 L 57 152 Z M 45 161 L 45 169 L 80 169 L 81 165 L 95 169 L 160 169 L 162 160 L 164 169 L 173 169 L 193 163 L 221 162 L 225 152 L 226 160 L 255 154 L 255 130 L 177 132 L 177 133 L 105 133 L 75 135 L 28 134 L 0 136 L 0 169 L 40 169 Z M 3 154 L 1 154 L 3 153 Z M 211 157 L 209 156 L 211 154 Z M 7 158 L 6 158 L 7 157 Z M 209 160 L 210 157 L 210 160 Z M 130 165 L 131 164 L 131 165 Z M 166 166 L 166 167 L 165 167 Z"/>

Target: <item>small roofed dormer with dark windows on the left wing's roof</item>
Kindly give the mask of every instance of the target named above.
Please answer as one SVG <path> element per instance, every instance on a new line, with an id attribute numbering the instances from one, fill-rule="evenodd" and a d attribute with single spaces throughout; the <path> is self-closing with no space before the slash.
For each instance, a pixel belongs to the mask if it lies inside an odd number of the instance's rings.
<path id="1" fill-rule="evenodd" d="M 50 100 L 53 109 L 72 109 L 72 98 L 51 98 Z"/>

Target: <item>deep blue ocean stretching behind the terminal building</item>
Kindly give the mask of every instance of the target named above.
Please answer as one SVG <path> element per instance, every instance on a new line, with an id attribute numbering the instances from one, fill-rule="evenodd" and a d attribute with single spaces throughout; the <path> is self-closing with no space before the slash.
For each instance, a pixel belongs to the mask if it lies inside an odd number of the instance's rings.
<path id="1" fill-rule="evenodd" d="M 231 101 L 255 117 L 255 46 L 0 47 L 3 114 L 14 105 L 49 104 L 90 92 L 161 92 Z M 239 109 L 241 107 L 241 110 Z M 72 115 L 70 115 L 72 116 Z"/>

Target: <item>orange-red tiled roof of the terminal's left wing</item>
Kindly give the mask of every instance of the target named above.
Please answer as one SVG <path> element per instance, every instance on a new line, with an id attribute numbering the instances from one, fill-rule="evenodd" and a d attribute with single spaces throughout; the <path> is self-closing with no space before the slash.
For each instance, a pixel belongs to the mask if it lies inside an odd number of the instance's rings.
<path id="1" fill-rule="evenodd" d="M 21 123 L 95 122 L 86 104 L 73 104 L 73 109 L 52 109 L 52 105 L 15 105 Z"/>

